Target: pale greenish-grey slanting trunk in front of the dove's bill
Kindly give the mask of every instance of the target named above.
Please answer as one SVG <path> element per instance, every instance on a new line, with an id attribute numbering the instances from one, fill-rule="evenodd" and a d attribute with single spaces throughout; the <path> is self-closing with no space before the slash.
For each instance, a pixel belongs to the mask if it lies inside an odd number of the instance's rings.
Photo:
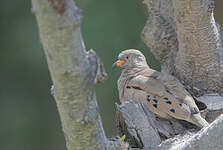
<path id="1" fill-rule="evenodd" d="M 106 74 L 80 33 L 81 11 L 73 0 L 32 0 L 53 82 L 68 150 L 124 149 L 108 141 L 98 112 L 94 83 Z"/>

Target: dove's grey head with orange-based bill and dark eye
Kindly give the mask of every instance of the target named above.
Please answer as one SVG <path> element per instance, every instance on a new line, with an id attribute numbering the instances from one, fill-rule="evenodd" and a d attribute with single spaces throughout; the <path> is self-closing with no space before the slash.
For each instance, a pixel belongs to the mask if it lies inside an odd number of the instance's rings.
<path id="1" fill-rule="evenodd" d="M 147 66 L 145 56 L 139 50 L 135 49 L 122 51 L 118 55 L 118 60 L 112 65 L 113 68 L 120 67 L 122 69 L 132 69 L 145 66 Z"/>

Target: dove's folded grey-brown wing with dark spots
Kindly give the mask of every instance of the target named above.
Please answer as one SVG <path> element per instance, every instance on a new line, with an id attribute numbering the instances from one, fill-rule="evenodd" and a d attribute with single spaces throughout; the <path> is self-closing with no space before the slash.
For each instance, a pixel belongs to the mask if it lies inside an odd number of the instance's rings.
<path id="1" fill-rule="evenodd" d="M 199 113 L 193 98 L 177 80 L 164 79 L 162 73 L 153 72 L 147 76 L 138 75 L 129 84 L 148 93 L 148 107 L 158 115 L 166 113 L 178 119 L 188 120 L 191 114 Z"/>

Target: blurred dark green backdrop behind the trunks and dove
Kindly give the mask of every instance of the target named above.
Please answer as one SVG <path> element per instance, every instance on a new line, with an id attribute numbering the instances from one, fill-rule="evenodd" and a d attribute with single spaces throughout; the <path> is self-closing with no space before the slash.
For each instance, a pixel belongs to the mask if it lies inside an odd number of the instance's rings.
<path id="1" fill-rule="evenodd" d="M 116 82 L 111 70 L 120 51 L 140 49 L 150 66 L 159 63 L 140 39 L 145 8 L 139 0 L 76 0 L 83 9 L 82 34 L 105 64 L 109 79 L 97 85 L 97 100 L 108 137 L 115 136 Z M 215 0 L 215 18 L 223 23 L 223 1 Z M 0 2 L 0 150 L 65 150 L 51 80 L 39 41 L 31 0 Z"/>

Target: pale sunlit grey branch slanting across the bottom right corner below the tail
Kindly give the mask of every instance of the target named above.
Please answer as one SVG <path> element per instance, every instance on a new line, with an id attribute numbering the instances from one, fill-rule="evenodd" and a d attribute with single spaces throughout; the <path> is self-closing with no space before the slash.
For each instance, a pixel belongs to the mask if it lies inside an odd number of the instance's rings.
<path id="1" fill-rule="evenodd" d="M 219 116 L 210 127 L 196 134 L 175 137 L 159 145 L 160 150 L 219 150 L 223 147 L 223 115 Z"/>

